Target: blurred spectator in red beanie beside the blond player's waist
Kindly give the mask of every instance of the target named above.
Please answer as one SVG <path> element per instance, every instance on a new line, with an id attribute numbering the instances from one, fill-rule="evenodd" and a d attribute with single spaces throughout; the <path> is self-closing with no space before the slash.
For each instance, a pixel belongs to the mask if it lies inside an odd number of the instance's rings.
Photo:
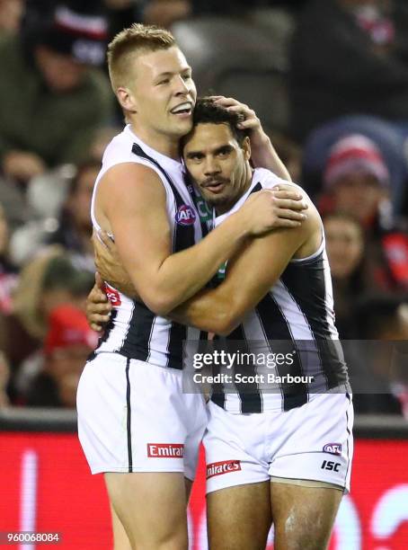
<path id="1" fill-rule="evenodd" d="M 53 309 L 39 370 L 25 382 L 25 404 L 74 409 L 79 377 L 97 340 L 83 311 L 71 305 Z"/>

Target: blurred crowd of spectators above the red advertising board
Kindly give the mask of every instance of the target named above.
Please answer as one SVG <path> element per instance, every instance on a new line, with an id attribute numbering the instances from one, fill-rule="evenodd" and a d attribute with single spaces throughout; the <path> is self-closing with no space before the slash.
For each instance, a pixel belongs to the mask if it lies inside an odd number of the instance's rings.
<path id="1" fill-rule="evenodd" d="M 341 339 L 408 340 L 406 0 L 0 0 L 0 407 L 75 406 L 93 182 L 123 124 L 105 50 L 135 21 L 173 31 L 201 95 L 250 104 L 315 200 Z M 404 369 L 357 404 L 408 417 Z"/>

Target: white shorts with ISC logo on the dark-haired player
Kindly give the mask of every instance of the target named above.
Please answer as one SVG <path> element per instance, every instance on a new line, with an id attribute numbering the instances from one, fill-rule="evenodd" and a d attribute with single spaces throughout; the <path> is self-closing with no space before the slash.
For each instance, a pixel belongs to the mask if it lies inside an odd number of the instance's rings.
<path id="1" fill-rule="evenodd" d="M 209 404 L 207 492 L 271 477 L 332 483 L 350 490 L 350 395 L 314 395 L 288 412 L 236 414 Z"/>

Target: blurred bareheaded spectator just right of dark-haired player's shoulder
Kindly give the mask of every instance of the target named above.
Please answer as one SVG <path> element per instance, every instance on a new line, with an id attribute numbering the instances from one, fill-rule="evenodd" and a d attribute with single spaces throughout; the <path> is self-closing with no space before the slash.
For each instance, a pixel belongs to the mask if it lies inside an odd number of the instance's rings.
<path id="1" fill-rule="evenodd" d="M 346 213 L 324 217 L 326 250 L 332 271 L 334 312 L 341 339 L 358 338 L 353 308 L 368 288 L 364 279 L 364 235 L 359 221 Z"/>

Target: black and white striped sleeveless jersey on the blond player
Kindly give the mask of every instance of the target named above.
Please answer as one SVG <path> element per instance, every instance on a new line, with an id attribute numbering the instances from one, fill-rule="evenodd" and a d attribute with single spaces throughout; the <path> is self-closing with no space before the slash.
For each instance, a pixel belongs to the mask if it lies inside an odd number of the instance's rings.
<path id="1" fill-rule="evenodd" d="M 103 155 L 91 206 L 95 229 L 100 229 L 94 216 L 98 182 L 112 166 L 123 163 L 144 164 L 152 168 L 163 182 L 167 215 L 173 232 L 173 253 L 200 241 L 208 232 L 208 226 L 205 221 L 200 221 L 197 211 L 200 206 L 196 206 L 192 191 L 184 182 L 183 164 L 146 146 L 129 125 L 111 140 Z M 115 185 L 120 185 L 120 182 L 115 182 Z M 111 321 L 95 352 L 117 352 L 129 359 L 140 359 L 160 367 L 182 368 L 182 341 L 198 340 L 200 331 L 155 315 L 144 304 L 110 285 L 106 286 L 106 291 L 113 306 Z"/>

